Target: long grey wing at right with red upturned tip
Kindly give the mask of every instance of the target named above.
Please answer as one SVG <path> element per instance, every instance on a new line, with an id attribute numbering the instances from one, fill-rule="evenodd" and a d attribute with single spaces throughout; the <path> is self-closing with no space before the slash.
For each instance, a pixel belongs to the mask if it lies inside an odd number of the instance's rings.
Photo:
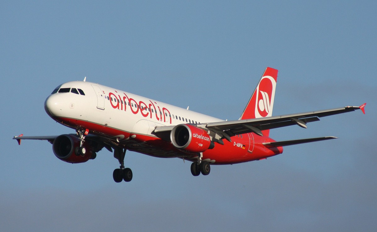
<path id="1" fill-rule="evenodd" d="M 365 103 L 366 104 L 366 103 Z M 235 121 L 221 121 L 215 123 L 204 123 L 198 124 L 198 127 L 207 128 L 212 132 L 215 132 L 218 139 L 225 138 L 228 141 L 231 141 L 230 137 L 239 134 L 245 134 L 254 132 L 258 135 L 263 135 L 263 130 L 280 128 L 284 126 L 298 125 L 302 128 L 307 128 L 306 124 L 319 121 L 320 117 L 326 117 L 335 114 L 343 114 L 357 109 L 362 109 L 364 112 L 365 104 L 362 106 L 346 106 L 336 109 L 326 109 L 321 111 L 312 111 L 298 114 L 287 114 L 273 117 L 265 118 L 252 118 L 244 120 L 235 120 Z M 364 112 L 365 114 L 365 112 Z M 174 126 L 158 126 L 155 129 L 155 134 L 162 139 L 170 140 L 169 134 Z M 326 138 L 329 139 L 329 138 Z M 303 143 L 300 141 L 299 143 Z M 294 144 L 293 142 L 291 144 Z"/>

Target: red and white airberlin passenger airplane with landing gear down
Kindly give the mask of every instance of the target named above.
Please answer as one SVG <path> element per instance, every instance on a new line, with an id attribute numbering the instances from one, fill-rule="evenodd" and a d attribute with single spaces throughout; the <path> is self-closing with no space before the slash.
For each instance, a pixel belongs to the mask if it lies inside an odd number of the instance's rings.
<path id="1" fill-rule="evenodd" d="M 211 165 L 264 160 L 282 154 L 283 146 L 330 140 L 336 137 L 275 141 L 270 129 L 291 125 L 307 128 L 320 117 L 361 109 L 365 105 L 272 116 L 277 69 L 266 68 L 239 120 L 224 121 L 150 98 L 86 81 L 59 85 L 44 102 L 46 113 L 76 134 L 15 136 L 21 140 L 47 140 L 60 160 L 83 163 L 106 148 L 120 167 L 115 182 L 129 182 L 133 174 L 124 166 L 126 151 L 160 158 L 191 161 L 193 176 L 208 175 Z"/>

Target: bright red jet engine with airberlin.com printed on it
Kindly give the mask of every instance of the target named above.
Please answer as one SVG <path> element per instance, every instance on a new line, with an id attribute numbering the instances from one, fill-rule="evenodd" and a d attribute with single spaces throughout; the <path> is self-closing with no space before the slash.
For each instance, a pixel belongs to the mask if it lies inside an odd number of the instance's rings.
<path id="1" fill-rule="evenodd" d="M 179 124 L 172 129 L 170 140 L 177 149 L 190 153 L 204 152 L 215 144 L 206 131 L 190 124 Z"/>

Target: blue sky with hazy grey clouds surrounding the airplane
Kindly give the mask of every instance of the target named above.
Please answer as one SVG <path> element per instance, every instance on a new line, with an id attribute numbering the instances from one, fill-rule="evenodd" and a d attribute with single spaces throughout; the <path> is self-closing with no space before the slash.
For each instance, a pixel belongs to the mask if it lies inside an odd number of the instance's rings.
<path id="1" fill-rule="evenodd" d="M 377 158 L 375 1 L 8 1 L 0 3 L 2 231 L 374 231 Z M 107 150 L 68 164 L 43 103 L 83 80 L 228 120 L 262 72 L 279 69 L 273 115 L 361 111 L 274 129 L 275 140 L 336 136 L 285 147 L 263 161 L 213 166 L 127 152 L 117 184 Z"/>

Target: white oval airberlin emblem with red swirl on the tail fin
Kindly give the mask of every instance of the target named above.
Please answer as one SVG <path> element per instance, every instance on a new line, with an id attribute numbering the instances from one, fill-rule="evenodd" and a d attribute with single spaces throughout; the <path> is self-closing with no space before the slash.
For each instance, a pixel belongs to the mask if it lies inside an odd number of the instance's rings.
<path id="1" fill-rule="evenodd" d="M 276 81 L 264 76 L 256 89 L 255 118 L 270 117 L 274 105 Z"/>

